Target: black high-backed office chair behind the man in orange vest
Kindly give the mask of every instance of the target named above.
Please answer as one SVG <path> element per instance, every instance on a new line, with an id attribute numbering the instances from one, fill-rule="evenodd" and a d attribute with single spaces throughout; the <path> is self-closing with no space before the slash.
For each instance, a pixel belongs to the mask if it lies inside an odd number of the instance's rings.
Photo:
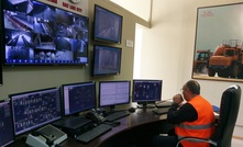
<path id="1" fill-rule="evenodd" d="M 178 147 L 183 140 L 209 143 L 210 147 L 231 147 L 231 139 L 238 118 L 240 101 L 241 87 L 233 84 L 225 89 L 221 97 L 220 114 L 216 123 L 216 131 L 211 138 L 202 139 L 196 137 L 184 137 L 178 140 L 176 147 Z"/>

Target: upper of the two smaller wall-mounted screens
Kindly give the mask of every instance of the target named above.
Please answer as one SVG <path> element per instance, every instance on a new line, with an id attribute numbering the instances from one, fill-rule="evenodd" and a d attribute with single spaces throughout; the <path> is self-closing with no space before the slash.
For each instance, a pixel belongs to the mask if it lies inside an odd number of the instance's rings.
<path id="1" fill-rule="evenodd" d="M 95 4 L 93 39 L 121 44 L 123 16 Z"/>

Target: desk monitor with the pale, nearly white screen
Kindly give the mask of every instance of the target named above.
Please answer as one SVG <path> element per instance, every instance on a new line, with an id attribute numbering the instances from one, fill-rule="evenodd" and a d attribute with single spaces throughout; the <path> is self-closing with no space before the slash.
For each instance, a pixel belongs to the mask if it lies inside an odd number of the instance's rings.
<path id="1" fill-rule="evenodd" d="M 99 106 L 110 106 L 130 103 L 131 81 L 100 81 Z"/>

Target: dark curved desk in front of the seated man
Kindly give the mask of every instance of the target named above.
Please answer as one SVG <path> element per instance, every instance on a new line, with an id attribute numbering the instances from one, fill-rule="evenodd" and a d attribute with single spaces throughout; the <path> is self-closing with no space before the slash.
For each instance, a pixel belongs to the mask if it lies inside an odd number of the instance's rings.
<path id="1" fill-rule="evenodd" d="M 153 109 L 137 109 L 121 120 L 119 126 L 113 127 L 110 132 L 91 140 L 88 144 L 82 144 L 68 138 L 60 146 L 64 147 L 125 147 L 125 146 L 151 146 L 153 135 L 167 133 L 174 127 L 166 120 L 166 115 L 156 116 L 152 112 Z"/>

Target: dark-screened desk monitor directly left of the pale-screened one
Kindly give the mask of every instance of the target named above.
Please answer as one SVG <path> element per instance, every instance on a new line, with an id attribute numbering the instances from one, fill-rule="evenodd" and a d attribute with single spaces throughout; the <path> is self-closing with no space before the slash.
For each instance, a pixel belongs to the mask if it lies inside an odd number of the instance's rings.
<path id="1" fill-rule="evenodd" d="M 96 108 L 96 82 L 63 84 L 64 115 Z"/>

